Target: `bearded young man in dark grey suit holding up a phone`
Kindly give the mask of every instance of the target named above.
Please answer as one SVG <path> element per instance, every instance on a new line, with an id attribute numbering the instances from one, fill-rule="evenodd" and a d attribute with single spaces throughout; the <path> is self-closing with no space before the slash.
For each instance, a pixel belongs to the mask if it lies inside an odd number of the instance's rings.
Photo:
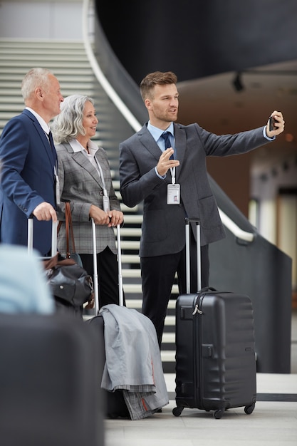
<path id="1" fill-rule="evenodd" d="M 235 135 L 214 135 L 197 123 L 175 123 L 178 112 L 177 77 L 172 72 L 150 73 L 140 83 L 149 121 L 120 143 L 120 192 L 133 207 L 144 201 L 140 266 L 142 313 L 155 325 L 159 345 L 168 301 L 177 272 L 179 293 L 185 284 L 185 217 L 201 224 L 202 287 L 209 282 L 209 243 L 225 237 L 217 203 L 207 179 L 207 156 L 236 155 L 274 140 L 283 132 L 283 115 L 271 114 L 274 128 Z M 164 133 L 169 132 L 170 142 Z M 168 148 L 167 148 L 168 147 Z M 172 159 L 173 158 L 173 159 Z M 197 262 L 191 231 L 191 292 L 197 291 Z"/>

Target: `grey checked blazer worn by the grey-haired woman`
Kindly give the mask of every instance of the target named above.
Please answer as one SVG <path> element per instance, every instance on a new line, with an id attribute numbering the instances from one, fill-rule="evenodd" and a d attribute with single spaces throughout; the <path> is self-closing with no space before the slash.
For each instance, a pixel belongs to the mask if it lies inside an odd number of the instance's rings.
<path id="1" fill-rule="evenodd" d="M 71 202 L 75 249 L 79 254 L 93 253 L 92 225 L 90 222 L 90 206 L 103 209 L 103 182 L 95 167 L 82 152 L 74 152 L 68 143 L 56 145 L 58 155 L 58 177 L 60 182 L 61 201 Z M 120 210 L 120 203 L 113 189 L 110 166 L 105 150 L 99 147 L 95 157 L 103 171 L 105 187 L 110 198 L 110 209 Z M 58 210 L 58 219 L 65 220 L 63 202 Z M 97 252 L 110 247 L 117 254 L 115 233 L 113 228 L 98 225 L 96 227 Z M 58 234 L 58 250 L 66 252 L 65 224 Z"/>

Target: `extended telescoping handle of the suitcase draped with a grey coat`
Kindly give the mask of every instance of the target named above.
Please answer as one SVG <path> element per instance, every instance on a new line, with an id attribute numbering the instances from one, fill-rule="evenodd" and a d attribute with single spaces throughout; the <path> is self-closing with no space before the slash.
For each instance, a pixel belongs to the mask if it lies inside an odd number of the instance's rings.
<path id="1" fill-rule="evenodd" d="M 92 219 L 93 233 L 93 268 L 94 268 L 94 293 L 95 293 L 95 316 L 99 313 L 99 291 L 98 291 L 98 271 L 97 271 L 97 248 L 96 248 L 96 225 Z M 120 224 L 117 225 L 117 244 L 118 244 L 118 282 L 119 282 L 119 305 L 124 305 L 123 296 L 123 276 L 122 276 L 122 252 L 120 246 Z"/>

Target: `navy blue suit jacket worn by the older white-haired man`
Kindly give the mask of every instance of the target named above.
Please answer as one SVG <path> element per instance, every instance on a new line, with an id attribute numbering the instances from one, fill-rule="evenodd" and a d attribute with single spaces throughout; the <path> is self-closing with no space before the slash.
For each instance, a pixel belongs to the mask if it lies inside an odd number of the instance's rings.
<path id="1" fill-rule="evenodd" d="M 27 219 L 41 202 L 56 207 L 54 156 L 48 138 L 29 110 L 12 118 L 0 140 L 0 241 L 27 244 Z M 51 249 L 51 222 L 34 218 L 33 247 Z"/>

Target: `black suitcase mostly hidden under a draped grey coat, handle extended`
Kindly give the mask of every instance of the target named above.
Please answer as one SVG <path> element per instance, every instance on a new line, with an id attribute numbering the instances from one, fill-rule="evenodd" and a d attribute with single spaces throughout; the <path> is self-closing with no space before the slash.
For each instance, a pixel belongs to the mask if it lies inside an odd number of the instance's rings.
<path id="1" fill-rule="evenodd" d="M 95 316 L 88 320 L 88 323 L 95 328 L 98 333 L 99 351 L 105 351 L 104 346 L 104 321 L 103 316 L 99 313 L 99 293 L 98 293 L 98 273 L 97 273 L 97 255 L 96 255 L 96 227 L 92 219 L 92 233 L 93 233 L 93 264 L 94 264 L 94 294 L 95 294 Z M 121 261 L 121 247 L 120 247 L 120 225 L 117 226 L 117 241 L 118 241 L 118 283 L 119 283 L 119 304 L 124 305 L 123 296 L 123 277 L 122 277 L 122 261 Z M 105 360 L 104 360 L 105 362 Z M 100 373 L 100 378 L 102 377 Z M 130 418 L 130 413 L 124 400 L 123 391 L 115 390 L 115 392 L 108 392 L 102 389 L 105 416 L 108 418 Z"/>

